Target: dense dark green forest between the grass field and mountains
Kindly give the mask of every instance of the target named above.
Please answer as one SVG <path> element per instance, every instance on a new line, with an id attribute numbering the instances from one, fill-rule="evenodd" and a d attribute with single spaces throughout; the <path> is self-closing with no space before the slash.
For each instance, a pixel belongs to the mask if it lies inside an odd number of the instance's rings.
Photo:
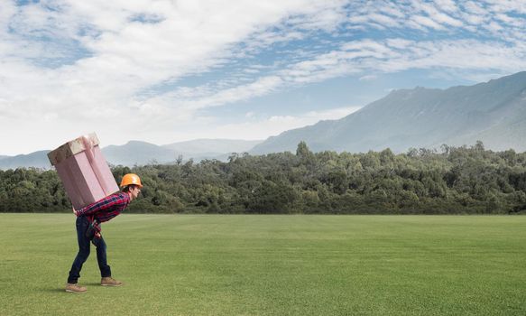
<path id="1" fill-rule="evenodd" d="M 482 142 L 440 150 L 233 153 L 228 162 L 111 166 L 137 173 L 127 212 L 274 214 L 518 214 L 526 212 L 526 153 Z M 0 212 L 69 212 L 54 170 L 0 171 Z"/>

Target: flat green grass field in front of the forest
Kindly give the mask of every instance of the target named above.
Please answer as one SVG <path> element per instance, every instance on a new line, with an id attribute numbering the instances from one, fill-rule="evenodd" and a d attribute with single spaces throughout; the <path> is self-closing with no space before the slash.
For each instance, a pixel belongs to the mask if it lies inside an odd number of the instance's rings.
<path id="1" fill-rule="evenodd" d="M 121 215 L 118 288 L 65 293 L 75 218 L 0 214 L 0 315 L 524 315 L 526 217 Z"/>

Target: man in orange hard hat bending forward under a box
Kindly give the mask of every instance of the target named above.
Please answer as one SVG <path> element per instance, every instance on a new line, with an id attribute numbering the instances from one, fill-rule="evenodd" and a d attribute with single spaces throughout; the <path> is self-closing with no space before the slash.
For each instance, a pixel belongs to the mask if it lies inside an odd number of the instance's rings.
<path id="1" fill-rule="evenodd" d="M 143 184 L 136 174 L 128 173 L 121 181 L 121 188 L 122 191 L 108 195 L 102 200 L 97 200 L 85 208 L 73 209 L 73 213 L 77 216 L 78 254 L 69 271 L 66 292 L 86 293 L 88 291 L 86 287 L 79 286 L 77 282 L 82 265 L 89 256 L 90 242 L 97 247 L 100 284 L 103 286 L 120 286 L 123 284 L 111 277 L 111 269 L 106 262 L 106 242 L 100 234 L 100 223 L 115 218 L 125 210 L 128 204 L 137 198 Z"/>

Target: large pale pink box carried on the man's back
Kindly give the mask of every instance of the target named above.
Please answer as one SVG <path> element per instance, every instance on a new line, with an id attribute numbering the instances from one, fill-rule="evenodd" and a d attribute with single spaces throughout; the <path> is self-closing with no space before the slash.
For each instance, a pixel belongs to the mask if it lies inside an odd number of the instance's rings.
<path id="1" fill-rule="evenodd" d="M 80 136 L 48 153 L 75 209 L 119 191 L 95 133 Z"/>

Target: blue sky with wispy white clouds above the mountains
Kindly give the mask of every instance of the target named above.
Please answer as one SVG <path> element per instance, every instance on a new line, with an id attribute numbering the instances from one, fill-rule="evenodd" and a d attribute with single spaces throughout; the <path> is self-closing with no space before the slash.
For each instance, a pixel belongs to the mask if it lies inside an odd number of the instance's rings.
<path id="1" fill-rule="evenodd" d="M 0 154 L 265 139 L 526 70 L 526 1 L 0 0 Z"/>

